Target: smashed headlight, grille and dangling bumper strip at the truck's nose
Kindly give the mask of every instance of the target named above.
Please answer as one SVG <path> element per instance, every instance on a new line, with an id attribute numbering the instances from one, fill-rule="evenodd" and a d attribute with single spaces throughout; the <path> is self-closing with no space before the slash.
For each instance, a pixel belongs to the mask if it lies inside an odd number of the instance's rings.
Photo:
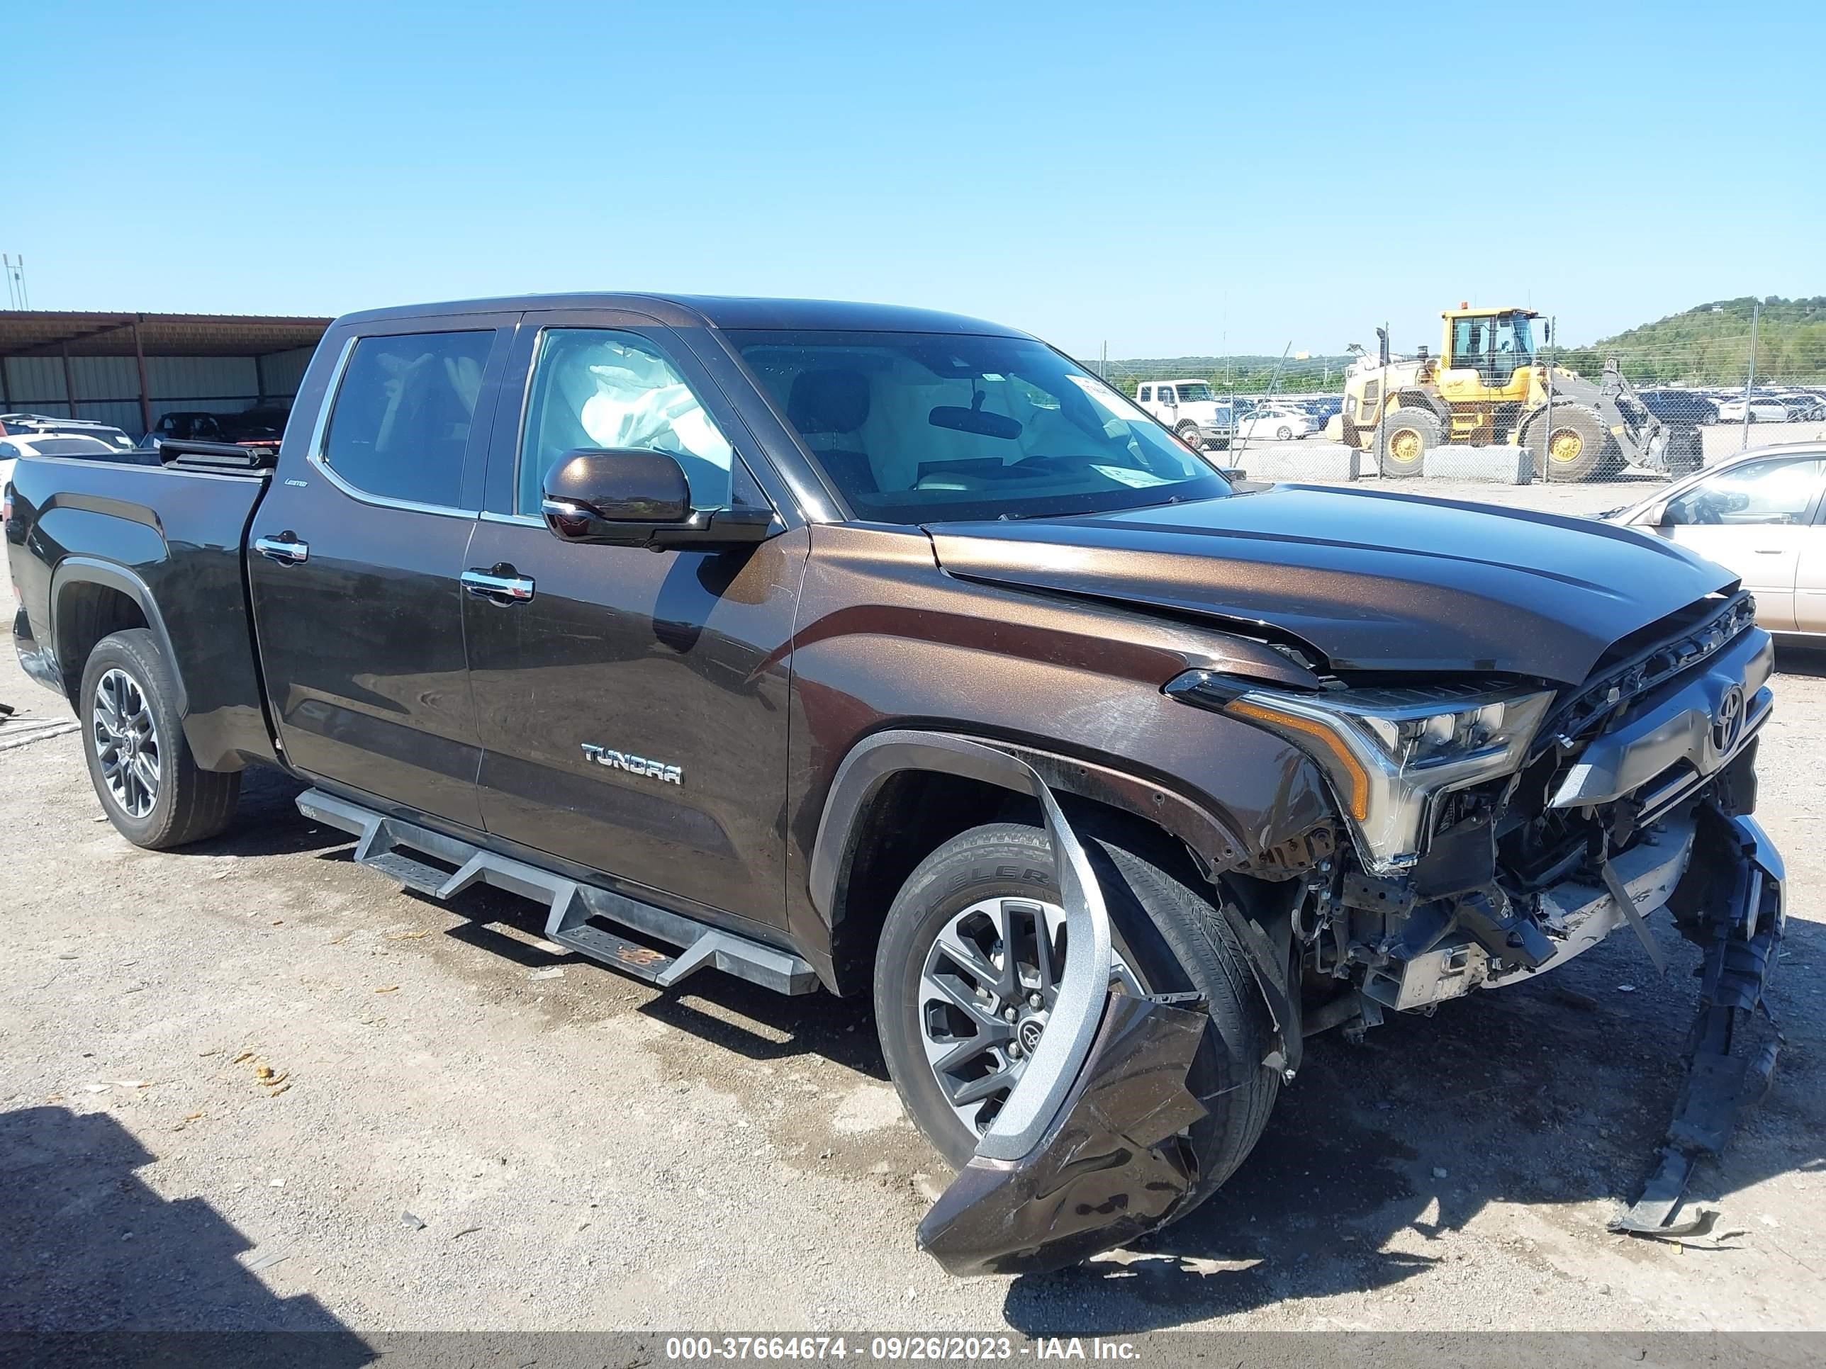
<path id="1" fill-rule="evenodd" d="M 1532 978 L 1629 927 L 1658 971 L 1663 907 L 1704 953 L 1689 1079 L 1643 1197 L 1618 1230 L 1674 1236 L 1698 1155 L 1768 1084 L 1775 1046 L 1733 1053 L 1766 1011 L 1784 925 L 1780 856 L 1751 818 L 1775 666 L 1747 593 L 1711 595 L 1616 643 L 1572 688 L 1545 681 L 1262 690 L 1192 672 L 1169 692 L 1296 743 L 1349 841 L 1309 873 L 1296 935 L 1306 1035 L 1362 1033 Z"/>

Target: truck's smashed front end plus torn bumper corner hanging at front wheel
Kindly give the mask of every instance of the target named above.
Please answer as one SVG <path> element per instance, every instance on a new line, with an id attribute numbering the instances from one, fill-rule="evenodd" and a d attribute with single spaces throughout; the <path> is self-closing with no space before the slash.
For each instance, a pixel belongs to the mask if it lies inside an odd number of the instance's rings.
<path id="1" fill-rule="evenodd" d="M 1746 1019 L 1768 1011 L 1784 925 L 1782 862 L 1751 818 L 1771 674 L 1749 595 L 1720 593 L 1625 637 L 1570 688 L 1284 690 L 1202 670 L 1172 681 L 1183 703 L 1293 741 L 1337 798 L 1342 831 L 1315 832 L 1293 876 L 1306 882 L 1293 925 L 1304 1006 L 1287 960 L 1223 907 L 1276 1028 L 1264 1068 L 1291 1079 L 1302 1035 L 1432 1013 L 1625 927 L 1665 969 L 1647 920 L 1667 909 L 1704 953 L 1689 1075 L 1645 1190 L 1614 1228 L 1693 1230 L 1682 1216 L 1693 1165 L 1724 1148 L 1775 1064 L 1773 1044 L 1740 1050 Z M 955 1274 L 1077 1263 L 1172 1221 L 1198 1188 L 1183 1137 L 1203 1115 L 1187 1071 L 1212 1029 L 1205 1004 L 1112 982 L 1096 878 L 1039 776 L 1032 787 L 1070 920 L 1070 980 L 1043 1055 L 920 1225 L 922 1249 Z"/>

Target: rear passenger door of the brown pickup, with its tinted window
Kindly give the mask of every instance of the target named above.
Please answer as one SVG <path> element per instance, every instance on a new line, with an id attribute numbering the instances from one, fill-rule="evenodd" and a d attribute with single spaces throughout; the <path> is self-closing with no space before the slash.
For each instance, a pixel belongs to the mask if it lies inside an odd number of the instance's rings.
<path id="1" fill-rule="evenodd" d="M 248 529 L 287 759 L 475 829 L 482 750 L 458 577 L 517 318 L 383 321 L 327 340 L 316 422 L 290 425 Z"/>

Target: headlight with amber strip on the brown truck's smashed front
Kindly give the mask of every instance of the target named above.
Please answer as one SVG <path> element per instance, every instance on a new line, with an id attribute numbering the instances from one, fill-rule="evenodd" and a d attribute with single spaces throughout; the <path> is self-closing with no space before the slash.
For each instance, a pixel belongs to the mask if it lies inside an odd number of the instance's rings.
<path id="1" fill-rule="evenodd" d="M 1554 699 L 1485 684 L 1291 694 L 1209 670 L 1185 672 L 1167 694 L 1265 726 L 1318 761 L 1377 874 L 1421 856 L 1441 794 L 1516 770 Z"/>

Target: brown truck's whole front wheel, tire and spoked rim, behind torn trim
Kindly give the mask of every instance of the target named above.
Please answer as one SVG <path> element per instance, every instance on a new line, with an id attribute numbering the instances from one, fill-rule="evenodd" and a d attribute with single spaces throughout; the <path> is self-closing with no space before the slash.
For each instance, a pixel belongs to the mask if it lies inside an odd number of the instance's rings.
<path id="1" fill-rule="evenodd" d="M 1271 1022 L 1209 885 L 1145 832 L 1088 829 L 1127 993 L 1198 991 L 1211 1004 L 1189 1073 L 1209 1115 L 1191 1128 L 1202 1201 L 1254 1146 L 1280 1090 L 1262 1066 Z M 1044 831 L 992 823 L 951 838 L 908 878 L 882 927 L 875 1020 L 915 1126 L 962 1168 L 1046 1029 L 1070 953 Z M 1191 1210 L 1191 1207 L 1187 1207 Z"/>

